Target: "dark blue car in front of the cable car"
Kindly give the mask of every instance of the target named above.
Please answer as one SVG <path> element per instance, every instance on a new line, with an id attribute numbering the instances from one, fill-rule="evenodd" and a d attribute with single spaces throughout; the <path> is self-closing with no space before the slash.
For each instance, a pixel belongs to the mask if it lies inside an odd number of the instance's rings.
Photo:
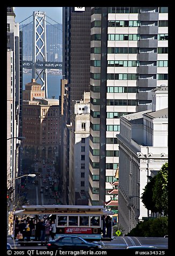
<path id="1" fill-rule="evenodd" d="M 49 240 L 47 243 L 47 249 L 101 249 L 102 246 L 96 243 L 90 243 L 81 237 L 74 235 L 61 236 L 55 240 Z"/>

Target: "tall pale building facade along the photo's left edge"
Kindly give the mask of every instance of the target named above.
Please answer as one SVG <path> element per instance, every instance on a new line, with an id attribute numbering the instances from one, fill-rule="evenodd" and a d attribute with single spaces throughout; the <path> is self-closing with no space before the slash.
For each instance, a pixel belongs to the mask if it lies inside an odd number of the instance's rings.
<path id="1" fill-rule="evenodd" d="M 7 187 L 14 186 L 18 176 L 19 136 L 19 23 L 13 7 L 7 7 Z M 15 191 L 14 191 L 15 192 Z M 13 197 L 14 197 L 13 192 Z M 14 198 L 13 198 L 14 199 Z"/>

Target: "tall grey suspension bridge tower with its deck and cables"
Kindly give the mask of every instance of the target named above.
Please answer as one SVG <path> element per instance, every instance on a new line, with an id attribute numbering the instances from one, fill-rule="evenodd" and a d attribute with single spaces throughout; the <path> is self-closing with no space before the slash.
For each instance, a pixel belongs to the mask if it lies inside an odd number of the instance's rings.
<path id="1" fill-rule="evenodd" d="M 32 60 L 23 60 L 22 65 L 23 68 L 32 69 L 32 78 L 35 81 L 41 84 L 41 90 L 45 90 L 45 96 L 48 97 L 47 92 L 47 70 L 48 69 L 62 69 L 62 62 L 57 61 L 48 61 L 47 60 L 47 37 L 46 37 L 46 23 L 50 24 L 46 21 L 45 12 L 42 11 L 34 11 L 32 22 L 21 25 L 21 30 L 24 29 L 25 26 L 33 23 L 33 30 L 32 30 Z M 30 17 L 26 18 L 19 24 L 22 24 L 24 21 L 29 19 Z M 53 20 L 52 18 L 49 18 Z M 55 20 L 53 20 L 55 22 Z M 57 22 L 55 22 L 57 23 Z M 59 24 L 59 23 L 57 23 Z M 54 26 L 53 24 L 50 24 Z M 56 27 L 56 26 L 55 26 Z M 56 27 L 56 29 L 59 29 Z M 61 30 L 62 31 L 62 30 Z"/>

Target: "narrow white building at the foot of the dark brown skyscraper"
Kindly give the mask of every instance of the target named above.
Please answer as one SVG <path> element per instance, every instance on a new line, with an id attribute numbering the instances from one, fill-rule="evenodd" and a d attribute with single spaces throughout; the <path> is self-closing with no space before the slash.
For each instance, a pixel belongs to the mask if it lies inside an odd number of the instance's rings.
<path id="1" fill-rule="evenodd" d="M 90 96 L 75 101 L 75 116 L 70 130 L 69 204 L 78 204 L 89 191 Z M 84 199 L 84 198 L 82 198 Z M 88 202 L 88 201 L 87 201 Z"/>

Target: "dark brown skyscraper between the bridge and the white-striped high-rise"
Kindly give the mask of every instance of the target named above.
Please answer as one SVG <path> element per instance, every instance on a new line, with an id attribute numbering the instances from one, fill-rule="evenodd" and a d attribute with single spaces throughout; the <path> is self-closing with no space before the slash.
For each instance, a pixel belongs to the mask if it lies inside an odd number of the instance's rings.
<path id="1" fill-rule="evenodd" d="M 63 203 L 68 203 L 69 194 L 69 131 L 74 115 L 72 101 L 82 99 L 84 91 L 90 91 L 90 31 L 91 8 L 77 11 L 75 7 L 63 7 L 63 78 L 67 80 L 64 122 L 62 126 L 62 190 Z M 64 143 L 63 143 L 64 141 Z"/>

